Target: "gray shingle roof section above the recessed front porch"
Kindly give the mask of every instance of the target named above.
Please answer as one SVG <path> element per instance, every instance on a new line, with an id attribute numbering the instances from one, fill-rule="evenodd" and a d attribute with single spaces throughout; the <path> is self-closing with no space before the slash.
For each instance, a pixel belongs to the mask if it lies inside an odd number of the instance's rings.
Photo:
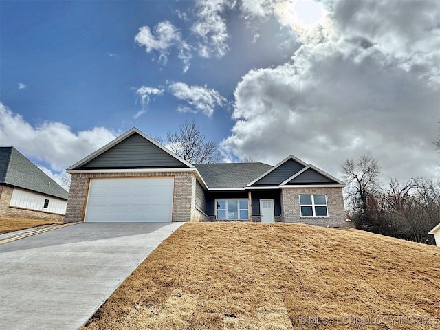
<path id="1" fill-rule="evenodd" d="M 194 164 L 209 188 L 244 188 L 272 168 L 264 163 Z"/>

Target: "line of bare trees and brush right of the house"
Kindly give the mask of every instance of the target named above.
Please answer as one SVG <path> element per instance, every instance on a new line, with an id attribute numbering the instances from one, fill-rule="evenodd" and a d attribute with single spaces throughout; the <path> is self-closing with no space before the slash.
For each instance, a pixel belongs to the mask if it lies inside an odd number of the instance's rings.
<path id="1" fill-rule="evenodd" d="M 369 156 L 342 165 L 347 216 L 354 228 L 418 243 L 434 244 L 428 232 L 440 222 L 440 184 L 412 177 L 379 182 L 380 166 Z"/>

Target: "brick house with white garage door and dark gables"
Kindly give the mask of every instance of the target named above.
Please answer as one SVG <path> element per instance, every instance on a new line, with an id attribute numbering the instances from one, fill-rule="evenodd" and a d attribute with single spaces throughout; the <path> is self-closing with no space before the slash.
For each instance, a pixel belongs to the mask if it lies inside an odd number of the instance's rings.
<path id="1" fill-rule="evenodd" d="M 261 221 L 345 227 L 344 183 L 290 155 L 189 164 L 131 129 L 67 168 L 65 221 Z"/>

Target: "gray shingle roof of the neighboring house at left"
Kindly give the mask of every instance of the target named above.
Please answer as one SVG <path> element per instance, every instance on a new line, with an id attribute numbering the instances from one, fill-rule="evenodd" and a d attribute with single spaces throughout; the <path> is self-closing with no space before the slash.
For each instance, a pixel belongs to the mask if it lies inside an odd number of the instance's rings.
<path id="1" fill-rule="evenodd" d="M 0 147 L 0 184 L 67 199 L 69 193 L 13 146 Z"/>

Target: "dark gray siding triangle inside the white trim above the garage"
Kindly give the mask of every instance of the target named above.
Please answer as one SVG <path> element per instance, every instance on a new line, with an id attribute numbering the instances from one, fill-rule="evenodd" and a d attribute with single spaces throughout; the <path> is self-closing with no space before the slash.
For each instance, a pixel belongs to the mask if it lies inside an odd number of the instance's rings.
<path id="1" fill-rule="evenodd" d="M 137 132 L 98 154 L 76 170 L 113 168 L 185 168 L 177 157 L 147 140 Z"/>

